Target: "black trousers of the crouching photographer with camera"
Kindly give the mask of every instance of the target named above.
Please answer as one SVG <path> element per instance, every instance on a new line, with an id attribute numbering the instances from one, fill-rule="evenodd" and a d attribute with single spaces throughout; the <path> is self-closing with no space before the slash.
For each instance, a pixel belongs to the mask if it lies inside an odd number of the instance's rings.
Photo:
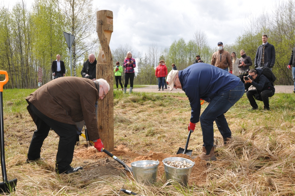
<path id="1" fill-rule="evenodd" d="M 246 95 L 249 99 L 250 105 L 253 108 L 258 108 L 258 105 L 256 104 L 256 101 L 254 99 L 255 94 L 259 94 L 256 89 L 248 90 L 246 93 Z M 265 90 L 260 93 L 261 99 L 258 99 L 258 101 L 263 101 L 265 109 L 269 109 L 268 97 L 272 97 L 274 94 L 275 94 L 275 92 L 271 91 L 271 90 Z"/>

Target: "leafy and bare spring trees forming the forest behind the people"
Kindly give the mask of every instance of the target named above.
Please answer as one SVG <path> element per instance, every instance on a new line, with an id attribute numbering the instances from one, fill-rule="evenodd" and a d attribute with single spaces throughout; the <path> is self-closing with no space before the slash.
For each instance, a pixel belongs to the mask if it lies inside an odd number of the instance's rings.
<path id="1" fill-rule="evenodd" d="M 52 80 L 51 64 L 56 54 L 65 62 L 66 76 L 70 76 L 69 50 L 63 31 L 76 36 L 72 48 L 73 76 L 81 77 L 83 61 L 90 53 L 98 55 L 100 45 L 96 34 L 96 9 L 92 0 L 36 0 L 31 8 L 19 1 L 11 9 L 0 8 L 0 69 L 9 74 L 6 88 L 36 88 L 37 69 L 43 68 L 43 84 Z M 295 0 L 279 2 L 271 13 L 263 12 L 245 20 L 244 31 L 235 43 L 225 44 L 224 49 L 240 50 L 252 58 L 254 63 L 257 47 L 262 44 L 261 36 L 267 34 L 268 42 L 276 50 L 273 73 L 277 77 L 275 85 L 293 85 L 288 65 L 292 48 L 295 46 Z M 136 59 L 135 84 L 157 84 L 155 68 L 159 60 L 165 60 L 168 71 L 175 63 L 178 70 L 193 64 L 196 55 L 204 63 L 211 62 L 216 47 L 208 44 L 204 31 L 198 29 L 191 40 L 180 38 L 165 48 L 157 43 L 148 46 L 144 53 L 134 53 L 132 45 L 119 45 L 112 49 L 113 62 L 123 64 L 127 51 Z M 115 66 L 115 65 L 114 65 Z M 254 65 L 251 67 L 254 68 Z M 124 82 L 124 77 L 122 77 Z"/>

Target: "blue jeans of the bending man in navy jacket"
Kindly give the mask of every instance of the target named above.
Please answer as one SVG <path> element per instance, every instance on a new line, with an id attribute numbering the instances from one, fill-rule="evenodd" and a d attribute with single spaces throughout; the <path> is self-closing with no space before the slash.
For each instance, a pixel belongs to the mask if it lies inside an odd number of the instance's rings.
<path id="1" fill-rule="evenodd" d="M 245 93 L 245 86 L 240 83 L 233 89 L 215 96 L 207 108 L 200 116 L 200 123 L 203 133 L 203 146 L 213 146 L 214 129 L 213 122 L 216 122 L 217 128 L 223 138 L 229 138 L 232 135 L 224 113 L 227 112 Z"/>

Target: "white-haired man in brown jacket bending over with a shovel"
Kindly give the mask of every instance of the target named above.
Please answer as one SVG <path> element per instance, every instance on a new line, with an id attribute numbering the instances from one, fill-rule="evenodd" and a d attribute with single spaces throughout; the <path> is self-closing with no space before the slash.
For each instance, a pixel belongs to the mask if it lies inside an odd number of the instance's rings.
<path id="1" fill-rule="evenodd" d="M 27 110 L 37 126 L 28 151 L 27 162 L 40 159 L 43 141 L 50 128 L 60 137 L 56 155 L 56 172 L 73 173 L 82 167 L 70 166 L 73 160 L 77 131 L 76 122 L 85 120 L 89 140 L 102 151 L 95 102 L 103 99 L 110 86 L 104 79 L 62 77 L 48 82 L 26 98 Z"/>

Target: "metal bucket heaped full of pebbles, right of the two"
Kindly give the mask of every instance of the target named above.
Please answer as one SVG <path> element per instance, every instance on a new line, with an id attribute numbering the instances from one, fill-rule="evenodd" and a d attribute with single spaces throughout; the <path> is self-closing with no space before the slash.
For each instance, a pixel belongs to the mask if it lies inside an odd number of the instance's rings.
<path id="1" fill-rule="evenodd" d="M 167 161 L 186 161 L 187 163 L 191 164 L 191 167 L 188 168 L 176 168 L 169 166 Z M 181 157 L 168 157 L 163 160 L 164 163 L 164 171 L 165 171 L 165 179 L 167 180 L 174 180 L 183 186 L 187 186 L 189 182 L 189 176 L 191 175 L 191 170 L 195 164 L 195 162 L 181 158 Z"/>

